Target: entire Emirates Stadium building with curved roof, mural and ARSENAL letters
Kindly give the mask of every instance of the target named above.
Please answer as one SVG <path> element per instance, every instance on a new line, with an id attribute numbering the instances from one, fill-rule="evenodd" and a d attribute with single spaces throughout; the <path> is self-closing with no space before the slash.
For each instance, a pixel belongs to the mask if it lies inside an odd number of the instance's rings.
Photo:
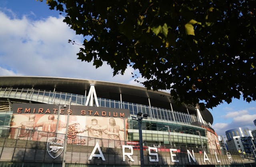
<path id="1" fill-rule="evenodd" d="M 237 150 L 220 149 L 212 123 L 208 109 L 163 91 L 0 77 L 0 166 L 244 166 Z"/>

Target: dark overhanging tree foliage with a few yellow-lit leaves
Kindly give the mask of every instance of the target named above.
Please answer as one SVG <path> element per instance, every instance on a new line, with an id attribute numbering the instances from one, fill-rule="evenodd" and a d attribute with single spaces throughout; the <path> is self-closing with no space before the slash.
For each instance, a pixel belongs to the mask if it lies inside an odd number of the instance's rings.
<path id="1" fill-rule="evenodd" d="M 138 69 L 147 89 L 212 108 L 256 100 L 254 0 L 47 0 L 84 39 L 78 59 L 113 74 Z"/>

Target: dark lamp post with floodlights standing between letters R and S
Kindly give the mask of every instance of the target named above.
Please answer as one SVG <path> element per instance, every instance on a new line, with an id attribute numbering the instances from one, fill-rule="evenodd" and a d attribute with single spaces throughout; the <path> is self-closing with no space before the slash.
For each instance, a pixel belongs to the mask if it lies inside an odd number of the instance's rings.
<path id="1" fill-rule="evenodd" d="M 142 141 L 142 127 L 141 127 L 141 122 L 142 119 L 148 119 L 148 114 L 142 114 L 138 113 L 136 117 L 131 116 L 133 120 L 138 121 L 138 126 L 139 126 L 139 145 L 140 145 L 140 166 L 144 167 L 144 155 L 143 155 L 143 141 Z"/>

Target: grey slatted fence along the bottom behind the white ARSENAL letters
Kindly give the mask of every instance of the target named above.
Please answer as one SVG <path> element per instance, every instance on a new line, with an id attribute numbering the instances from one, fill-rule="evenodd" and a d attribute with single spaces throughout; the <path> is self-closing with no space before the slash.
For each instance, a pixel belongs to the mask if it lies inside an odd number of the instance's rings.
<path id="1" fill-rule="evenodd" d="M 21 131 L 26 131 L 27 135 L 21 136 Z M 0 161 L 54 163 L 59 165 L 62 163 L 63 153 L 56 158 L 51 157 L 47 149 L 47 143 L 48 139 L 52 137 L 64 140 L 64 134 L 10 127 L 1 127 L 0 134 Z M 94 151 L 97 143 L 100 150 L 97 147 L 96 151 Z M 130 143 L 126 141 L 76 136 L 75 138 L 68 138 L 68 144 L 66 146 L 64 145 L 67 149 L 65 160 L 67 164 L 140 165 L 140 147 L 136 145 L 136 142 L 133 143 L 135 145 L 130 146 L 132 149 L 127 147 L 123 151 L 122 145 L 130 145 Z M 150 149 L 149 151 L 149 147 L 155 147 L 157 149 Z M 170 149 L 176 150 L 170 152 Z M 238 151 L 228 151 L 230 156 L 227 156 L 226 150 L 204 149 L 144 143 L 144 164 L 240 166 L 246 163 L 245 161 L 254 162 L 254 159 L 250 156 L 246 157 L 247 159 L 242 159 Z M 100 151 L 102 151 L 102 154 Z M 191 155 L 189 155 L 188 151 Z M 131 155 L 132 159 L 127 155 L 124 156 L 124 153 Z M 102 156 L 92 156 L 92 159 L 90 159 L 90 156 L 93 154 L 103 155 L 105 161 Z M 195 162 L 193 161 L 193 157 Z M 156 160 L 157 158 L 158 160 Z"/>

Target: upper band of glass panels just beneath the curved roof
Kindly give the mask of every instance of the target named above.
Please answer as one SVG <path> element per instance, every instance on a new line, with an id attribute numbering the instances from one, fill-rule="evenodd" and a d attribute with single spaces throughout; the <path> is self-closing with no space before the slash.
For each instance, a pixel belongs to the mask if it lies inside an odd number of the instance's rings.
<path id="1" fill-rule="evenodd" d="M 28 88 L 13 88 L 0 87 L 0 97 L 23 99 L 28 101 L 36 101 L 48 104 L 65 104 L 71 99 L 73 105 L 85 105 L 87 96 L 78 95 L 66 92 L 56 92 L 42 89 L 28 89 Z M 131 115 L 136 115 L 138 111 L 145 111 L 149 114 L 149 119 L 171 121 L 175 123 L 190 124 L 197 121 L 195 115 L 181 113 L 178 111 L 171 111 L 169 109 L 162 109 L 159 107 L 150 107 L 148 105 L 141 105 L 136 103 L 128 103 L 124 101 L 98 98 L 101 107 L 114 107 L 129 109 Z"/>

